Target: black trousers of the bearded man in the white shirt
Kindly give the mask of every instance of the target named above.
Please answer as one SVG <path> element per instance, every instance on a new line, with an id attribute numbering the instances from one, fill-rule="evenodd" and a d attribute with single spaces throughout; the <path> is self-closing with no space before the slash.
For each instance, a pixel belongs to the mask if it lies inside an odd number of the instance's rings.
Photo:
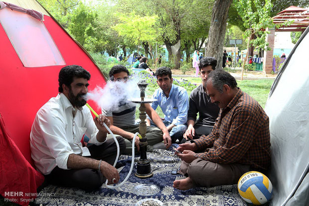
<path id="1" fill-rule="evenodd" d="M 120 154 L 126 149 L 125 141 L 122 137 L 116 137 L 119 142 Z M 91 156 L 89 158 L 103 160 L 113 165 L 117 156 L 117 146 L 114 139 L 108 139 L 103 144 L 88 147 Z M 55 167 L 50 174 L 45 175 L 46 181 L 52 185 L 62 187 L 75 187 L 85 191 L 99 189 L 106 181 L 101 172 L 94 169 L 70 169 L 64 170 Z"/>

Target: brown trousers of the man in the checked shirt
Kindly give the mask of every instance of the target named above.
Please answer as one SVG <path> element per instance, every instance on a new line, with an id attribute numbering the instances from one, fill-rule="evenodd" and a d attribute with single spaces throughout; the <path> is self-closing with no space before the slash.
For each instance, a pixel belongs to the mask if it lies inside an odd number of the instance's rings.
<path id="1" fill-rule="evenodd" d="M 249 165 L 218 164 L 197 158 L 191 163 L 182 161 L 178 173 L 188 175 L 195 187 L 211 188 L 237 184 L 239 178 L 249 171 Z"/>

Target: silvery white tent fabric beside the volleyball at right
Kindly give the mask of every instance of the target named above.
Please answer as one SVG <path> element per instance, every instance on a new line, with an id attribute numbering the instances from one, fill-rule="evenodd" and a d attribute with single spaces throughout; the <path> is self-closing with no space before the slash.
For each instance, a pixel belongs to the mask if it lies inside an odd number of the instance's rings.
<path id="1" fill-rule="evenodd" d="M 309 27 L 277 75 L 265 111 L 270 119 L 272 205 L 309 203 Z"/>

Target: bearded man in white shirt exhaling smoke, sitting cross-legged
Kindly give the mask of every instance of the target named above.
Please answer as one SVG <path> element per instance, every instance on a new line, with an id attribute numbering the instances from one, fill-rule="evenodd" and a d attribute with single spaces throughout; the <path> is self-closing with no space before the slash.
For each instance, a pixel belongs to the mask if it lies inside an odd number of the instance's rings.
<path id="1" fill-rule="evenodd" d="M 117 147 L 106 140 L 111 122 L 102 114 L 92 118 L 84 96 L 88 92 L 90 73 L 81 66 L 70 65 L 59 72 L 59 94 L 37 112 L 30 133 L 31 157 L 47 182 L 63 187 L 92 191 L 108 180 L 119 181 L 113 167 Z M 89 137 L 83 147 L 82 137 Z M 125 143 L 118 137 L 120 153 Z M 90 144 L 92 143 L 92 144 Z"/>

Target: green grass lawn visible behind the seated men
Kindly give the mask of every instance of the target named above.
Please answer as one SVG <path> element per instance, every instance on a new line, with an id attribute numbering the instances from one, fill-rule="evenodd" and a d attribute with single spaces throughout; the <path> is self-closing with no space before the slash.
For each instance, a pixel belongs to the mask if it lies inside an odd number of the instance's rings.
<path id="1" fill-rule="evenodd" d="M 174 79 L 180 80 L 179 77 L 174 78 Z M 197 86 L 201 83 L 200 78 L 183 78 L 183 79 L 188 80 L 188 82 L 191 82 L 192 84 L 197 84 Z M 251 97 L 253 97 L 256 101 L 258 101 L 258 103 L 260 103 L 260 105 L 264 108 L 273 82 L 274 82 L 274 79 L 243 80 L 243 81 L 237 80 L 237 85 L 243 92 L 246 92 Z M 152 97 L 152 94 L 157 88 L 158 88 L 157 85 L 156 87 L 155 86 L 147 87 L 148 98 Z M 193 89 L 191 88 L 187 89 L 188 95 L 190 95 L 192 90 Z M 164 117 L 164 114 L 159 106 L 156 109 L 156 112 L 159 114 L 160 117 Z M 136 112 L 136 117 L 139 118 L 138 109 Z"/>

